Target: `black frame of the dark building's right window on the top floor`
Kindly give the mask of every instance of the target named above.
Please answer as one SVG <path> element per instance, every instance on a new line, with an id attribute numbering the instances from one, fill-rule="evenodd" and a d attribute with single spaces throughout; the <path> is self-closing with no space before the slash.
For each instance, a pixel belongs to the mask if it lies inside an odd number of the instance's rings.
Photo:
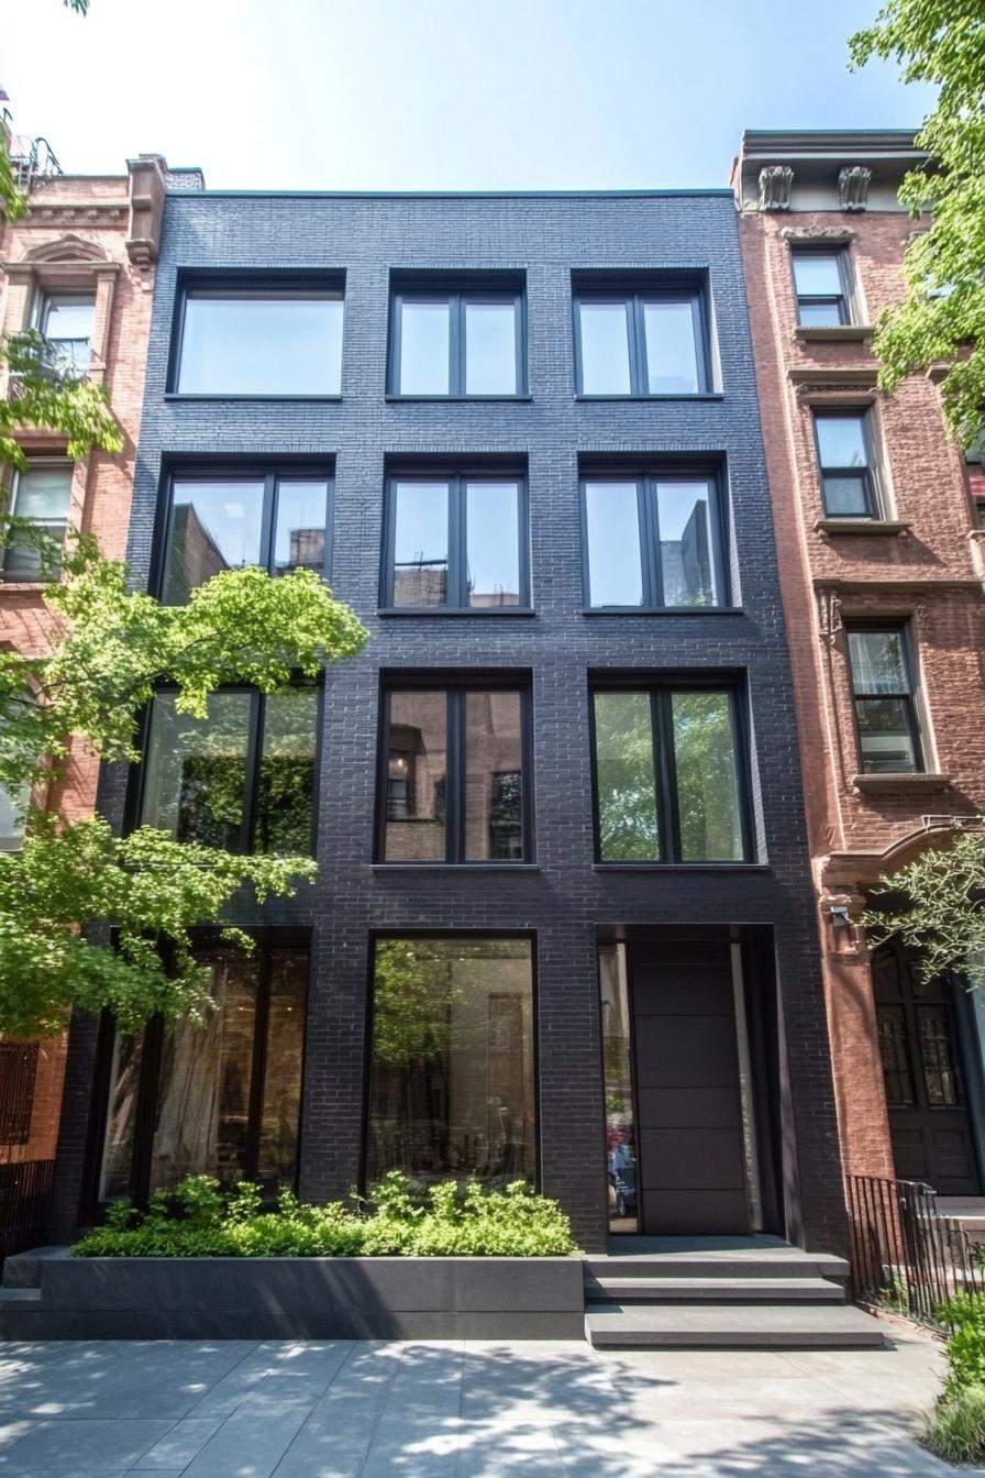
<path id="1" fill-rule="evenodd" d="M 697 367 L 697 390 L 648 389 L 647 328 L 644 304 L 647 302 L 690 302 L 694 327 L 694 361 Z M 585 390 L 582 355 L 582 303 L 622 303 L 626 309 L 626 340 L 629 352 L 629 390 Z M 572 315 L 574 334 L 574 393 L 579 401 L 693 401 L 697 396 L 715 395 L 712 361 L 712 313 L 709 306 L 707 275 L 681 276 L 679 273 L 647 273 L 639 278 L 607 278 L 573 273 Z"/>

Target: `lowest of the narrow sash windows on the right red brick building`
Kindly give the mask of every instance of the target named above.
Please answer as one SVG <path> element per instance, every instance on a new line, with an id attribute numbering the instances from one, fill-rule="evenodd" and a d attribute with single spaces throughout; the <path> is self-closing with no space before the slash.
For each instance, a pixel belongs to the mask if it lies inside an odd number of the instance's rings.
<path id="1" fill-rule="evenodd" d="M 899 774 L 923 769 L 913 661 L 905 627 L 848 631 L 862 770 Z"/>

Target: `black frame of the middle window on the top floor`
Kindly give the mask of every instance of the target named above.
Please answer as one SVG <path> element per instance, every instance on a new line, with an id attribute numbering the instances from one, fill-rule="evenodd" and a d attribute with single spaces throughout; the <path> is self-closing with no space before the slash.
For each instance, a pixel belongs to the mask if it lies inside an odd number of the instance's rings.
<path id="1" fill-rule="evenodd" d="M 402 310 L 405 302 L 447 303 L 447 392 L 400 389 Z M 514 307 L 515 390 L 465 389 L 465 307 L 468 303 L 511 303 Z M 388 401 L 526 401 L 527 380 L 527 284 L 524 272 L 427 273 L 394 272 L 390 278 L 387 336 Z"/>

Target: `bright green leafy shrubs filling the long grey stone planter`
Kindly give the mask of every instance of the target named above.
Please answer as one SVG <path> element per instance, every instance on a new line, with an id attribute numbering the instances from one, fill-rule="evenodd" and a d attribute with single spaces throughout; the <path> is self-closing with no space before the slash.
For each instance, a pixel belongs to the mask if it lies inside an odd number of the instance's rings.
<path id="1" fill-rule="evenodd" d="M 223 1194 L 208 1175 L 189 1175 L 155 1191 L 146 1212 L 117 1202 L 77 1242 L 80 1258 L 343 1258 L 502 1256 L 546 1258 L 576 1252 L 572 1227 L 557 1202 L 526 1181 L 504 1191 L 477 1181 L 440 1181 L 430 1190 L 391 1171 L 372 1202 L 307 1206 L 282 1190 L 264 1210 L 248 1181 Z"/>

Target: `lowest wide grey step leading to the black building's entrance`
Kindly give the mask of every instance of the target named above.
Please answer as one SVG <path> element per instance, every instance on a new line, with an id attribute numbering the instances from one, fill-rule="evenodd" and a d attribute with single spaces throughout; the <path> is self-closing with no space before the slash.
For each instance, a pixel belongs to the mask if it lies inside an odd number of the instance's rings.
<path id="1" fill-rule="evenodd" d="M 883 1330 L 877 1318 L 851 1307 L 589 1304 L 585 1310 L 585 1336 L 597 1349 L 879 1349 Z"/>

